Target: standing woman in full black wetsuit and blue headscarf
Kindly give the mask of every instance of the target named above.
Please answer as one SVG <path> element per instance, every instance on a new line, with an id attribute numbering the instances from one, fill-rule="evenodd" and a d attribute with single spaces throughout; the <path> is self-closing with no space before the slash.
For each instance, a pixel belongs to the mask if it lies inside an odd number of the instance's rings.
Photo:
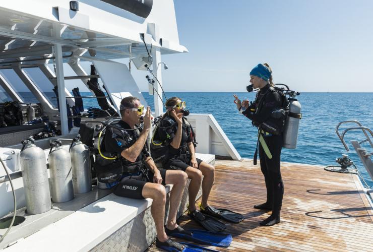
<path id="1" fill-rule="evenodd" d="M 260 167 L 264 175 L 267 187 L 267 201 L 254 208 L 261 210 L 272 210 L 270 217 L 260 223 L 262 226 L 272 226 L 280 222 L 280 210 L 282 198 L 284 195 L 284 184 L 281 178 L 280 159 L 283 144 L 282 132 L 278 135 L 273 134 L 270 128 L 265 127 L 269 120 L 273 121 L 271 115 L 283 105 L 280 94 L 274 91 L 272 81 L 272 70 L 268 64 L 259 64 L 250 72 L 250 82 L 254 89 L 259 88 L 254 102 L 248 100 L 241 101 L 234 95 L 234 103 L 238 110 L 247 118 L 253 121 L 253 124 L 260 129 L 260 133 L 272 154 L 268 156 L 265 149 L 259 142 Z M 264 130 L 265 129 L 265 130 Z M 268 151 L 268 150 L 267 150 Z"/>

